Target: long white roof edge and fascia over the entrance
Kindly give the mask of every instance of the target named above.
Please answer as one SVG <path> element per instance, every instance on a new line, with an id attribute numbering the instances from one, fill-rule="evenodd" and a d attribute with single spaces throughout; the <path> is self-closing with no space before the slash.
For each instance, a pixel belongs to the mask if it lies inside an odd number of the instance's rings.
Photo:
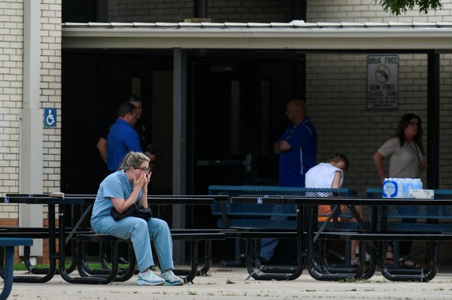
<path id="1" fill-rule="evenodd" d="M 452 23 L 64 23 L 63 49 L 452 52 Z"/>

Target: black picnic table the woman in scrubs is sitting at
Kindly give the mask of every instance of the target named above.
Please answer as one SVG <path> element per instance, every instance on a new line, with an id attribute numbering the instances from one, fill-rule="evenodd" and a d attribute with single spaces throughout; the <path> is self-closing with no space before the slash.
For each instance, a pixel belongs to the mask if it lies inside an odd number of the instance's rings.
<path id="1" fill-rule="evenodd" d="M 60 195 L 61 193 L 59 193 Z M 225 196 L 208 196 L 208 195 L 150 195 L 148 197 L 149 204 L 157 204 L 157 205 L 173 205 L 173 204 L 197 204 L 197 205 L 212 205 L 215 201 L 226 200 Z M 84 222 L 88 213 L 90 213 L 90 209 L 92 204 L 95 202 L 95 195 L 83 195 L 83 194 L 72 194 L 72 195 L 64 195 L 61 194 L 59 197 L 49 197 L 49 195 L 45 194 L 10 194 L 7 197 L 3 197 L 3 202 L 5 204 L 11 203 L 26 203 L 26 204 L 47 204 L 48 209 L 48 219 L 49 226 L 47 228 L 0 228 L 0 237 L 31 237 L 31 238 L 48 238 L 49 239 L 49 260 L 50 265 L 47 269 L 36 269 L 31 264 L 28 265 L 30 273 L 44 273 L 44 276 L 15 276 L 14 282 L 36 282 L 43 283 L 49 281 L 53 277 L 55 273 L 60 273 L 64 279 L 68 279 L 68 282 L 80 282 L 87 283 L 86 279 L 75 279 L 70 277 L 68 274 L 71 273 L 75 267 L 77 267 L 77 257 L 73 257 L 71 266 L 66 269 L 65 260 L 66 260 L 66 251 L 65 247 L 67 243 L 74 241 L 73 245 L 76 245 L 76 237 L 77 234 L 92 234 L 89 228 L 81 228 L 79 226 Z M 59 226 L 55 224 L 55 206 L 58 205 L 59 208 Z M 70 227 L 66 227 L 66 216 L 68 211 L 72 209 L 74 206 L 86 206 L 84 208 L 83 213 L 79 214 L 79 219 L 75 224 L 72 224 Z M 73 219 L 75 221 L 75 219 Z M 206 243 L 210 243 L 217 238 L 224 238 L 225 234 L 219 230 L 215 232 L 209 230 L 198 230 L 198 232 L 194 232 L 195 230 L 191 230 L 191 232 L 179 230 L 179 232 L 173 232 L 173 238 L 188 241 L 188 238 L 192 239 L 192 245 L 198 243 L 198 241 L 207 241 Z M 192 235 L 198 233 L 196 236 Z M 211 234 L 211 235 L 210 235 Z M 216 234 L 214 236 L 214 234 Z M 185 239 L 184 239 L 185 238 Z M 115 238 L 113 238 L 115 239 Z M 55 241 L 59 241 L 59 249 L 57 251 L 55 247 Z M 119 242 L 119 241 L 118 241 Z M 192 246 L 194 247 L 194 246 Z M 206 245 L 208 247 L 208 245 Z M 194 247 L 193 251 L 197 251 L 197 247 Z M 27 251 L 28 250 L 28 251 Z M 73 247 L 73 255 L 75 254 L 85 253 L 84 251 L 78 251 L 77 247 Z M 206 252 L 207 253 L 207 252 Z M 29 247 L 27 246 L 24 250 L 24 255 L 29 259 Z M 197 254 L 195 254 L 197 256 Z M 55 260 L 59 258 L 59 268 L 56 268 Z M 209 261 L 206 261 L 204 267 L 199 270 L 201 273 L 207 273 L 208 268 L 210 267 L 210 262 L 212 260 L 211 253 L 206 254 L 206 258 L 209 258 Z M 27 261 L 27 258 L 25 258 Z M 0 264 L 1 265 L 1 264 Z M 27 265 L 27 264 L 26 264 Z M 0 266 L 1 267 L 1 266 Z M 103 274 L 96 274 L 103 277 L 101 279 L 91 279 L 89 283 L 99 284 L 99 283 L 107 283 L 108 280 L 105 280 L 105 277 L 108 277 L 112 274 L 112 269 L 109 267 L 106 270 L 103 270 Z M 129 270 L 130 271 L 130 270 Z M 134 271 L 134 268 L 133 270 Z M 120 277 L 123 278 L 127 270 L 120 271 Z M 190 271 L 188 271 L 190 274 Z M 3 275 L 0 270 L 0 275 Z M 129 273 L 127 273 L 129 275 Z M 132 273 L 133 275 L 133 273 Z M 191 276 L 191 275 L 190 275 Z M 81 277 L 86 277 L 86 273 L 82 273 Z M 118 276 L 112 275 L 112 279 L 115 281 L 118 280 Z M 190 279 L 190 277 L 188 277 Z M 192 280 L 192 279 L 190 279 Z M 111 280 L 110 280 L 111 281 Z"/>

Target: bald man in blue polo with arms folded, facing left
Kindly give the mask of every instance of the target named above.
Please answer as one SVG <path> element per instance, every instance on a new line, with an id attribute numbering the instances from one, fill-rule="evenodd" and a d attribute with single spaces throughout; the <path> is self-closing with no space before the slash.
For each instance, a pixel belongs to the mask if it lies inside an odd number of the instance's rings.
<path id="1" fill-rule="evenodd" d="M 290 125 L 281 134 L 273 146 L 273 152 L 279 155 L 279 187 L 304 187 L 305 174 L 316 165 L 317 132 L 309 117 L 303 100 L 290 100 L 286 114 Z M 275 205 L 275 213 L 293 213 L 293 207 Z M 286 216 L 275 215 L 271 219 L 284 220 Z M 268 263 L 275 254 L 279 240 L 262 238 L 260 258 Z"/>

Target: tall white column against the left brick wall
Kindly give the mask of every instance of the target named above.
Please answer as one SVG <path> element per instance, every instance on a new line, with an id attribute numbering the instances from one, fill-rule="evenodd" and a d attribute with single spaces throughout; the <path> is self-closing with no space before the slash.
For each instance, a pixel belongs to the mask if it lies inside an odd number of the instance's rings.
<path id="1" fill-rule="evenodd" d="M 23 2 L 23 109 L 19 120 L 19 193 L 42 193 L 40 1 Z M 19 226 L 42 227 L 42 205 L 19 205 Z M 35 240 L 32 256 L 42 256 Z"/>

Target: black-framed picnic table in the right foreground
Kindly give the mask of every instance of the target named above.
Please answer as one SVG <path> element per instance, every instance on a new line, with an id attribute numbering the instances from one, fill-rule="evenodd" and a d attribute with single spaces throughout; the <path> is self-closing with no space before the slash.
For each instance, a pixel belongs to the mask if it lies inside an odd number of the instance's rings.
<path id="1" fill-rule="evenodd" d="M 410 271 L 405 271 L 403 275 L 398 275 L 395 273 L 385 274 L 384 265 L 381 264 L 382 273 L 386 278 L 394 281 L 419 281 L 425 282 L 429 279 L 432 279 L 436 275 L 436 270 L 438 268 L 438 256 L 436 255 L 436 251 L 438 249 L 437 244 L 439 241 L 452 241 L 452 232 L 442 232 L 442 233 L 434 233 L 429 234 L 428 232 L 418 232 L 405 234 L 405 232 L 385 232 L 381 231 L 378 228 L 384 228 L 385 219 L 378 218 L 377 212 L 379 209 L 383 209 L 389 206 L 452 206 L 452 200 L 425 200 L 425 199 L 372 199 L 372 198 L 363 198 L 363 197 L 306 197 L 306 196 L 238 196 L 231 197 L 231 202 L 233 203 L 247 203 L 247 204 L 284 204 L 284 205 L 297 205 L 297 241 L 298 244 L 301 245 L 298 251 L 305 253 L 305 256 L 299 255 L 299 264 L 297 266 L 297 272 L 303 267 L 303 260 L 308 265 L 308 271 L 310 271 L 310 275 L 315 279 L 319 280 L 340 280 L 347 278 L 369 278 L 373 275 L 376 269 L 377 254 L 381 254 L 384 247 L 381 247 L 381 243 L 384 241 L 392 241 L 392 239 L 403 238 L 405 240 L 416 239 L 416 241 L 426 241 L 429 242 L 429 249 L 431 258 L 429 258 L 429 268 L 424 269 L 424 272 L 419 274 L 411 273 Z M 337 232 L 330 234 L 328 231 L 325 231 L 328 225 L 328 221 L 325 221 L 321 228 L 317 226 L 317 213 L 316 206 L 318 205 L 332 205 L 334 209 L 331 211 L 329 218 L 333 217 L 335 211 L 340 210 L 342 206 L 347 206 L 351 209 L 359 228 L 356 230 L 338 230 Z M 372 208 L 371 214 L 371 223 L 370 227 L 367 228 L 363 223 L 361 217 L 357 215 L 354 206 L 357 205 L 368 205 Z M 384 215 L 384 214 L 381 214 Z M 304 219 L 305 221 L 301 221 Z M 405 234 L 405 236 L 401 236 L 401 234 Z M 357 270 L 355 273 L 331 273 L 329 269 L 327 269 L 326 265 L 320 266 L 320 268 L 316 268 L 314 263 L 316 262 L 316 256 L 318 256 L 319 252 L 316 248 L 316 244 L 319 241 L 331 240 L 331 236 L 335 236 L 335 238 L 340 238 L 342 240 L 351 241 L 357 240 L 360 241 L 360 263 L 357 266 Z M 364 244 L 364 240 L 368 239 L 368 243 L 371 244 L 371 260 L 369 262 L 365 262 L 364 257 L 364 249 L 362 245 Z M 432 241 L 432 239 L 434 241 Z M 318 262 L 318 260 L 317 260 Z M 301 273 L 301 272 L 300 272 Z M 275 279 L 294 279 L 296 278 L 292 274 L 288 277 L 280 276 L 275 277 Z M 388 275 L 388 276 L 386 276 Z M 253 276 L 254 277 L 254 276 Z"/>

